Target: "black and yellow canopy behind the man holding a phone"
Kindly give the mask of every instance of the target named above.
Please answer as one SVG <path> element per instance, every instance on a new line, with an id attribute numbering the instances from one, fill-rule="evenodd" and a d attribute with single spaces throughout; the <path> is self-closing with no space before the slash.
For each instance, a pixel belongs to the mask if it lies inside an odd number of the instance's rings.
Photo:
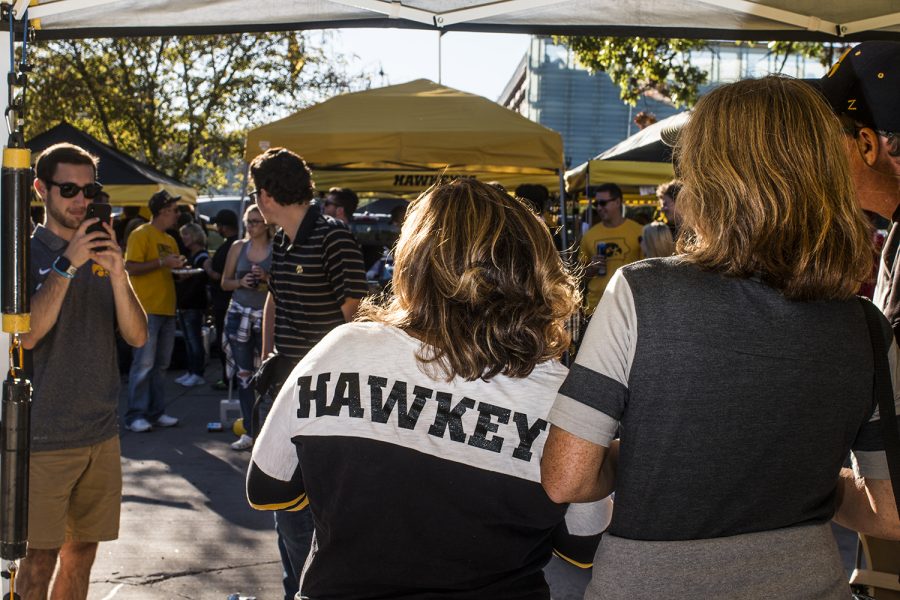
<path id="1" fill-rule="evenodd" d="M 181 196 L 184 201 L 194 202 L 197 200 L 197 190 L 194 188 L 172 179 L 146 163 L 119 152 L 68 123 L 60 123 L 56 127 L 34 136 L 25 145 L 31 150 L 33 158 L 37 158 L 39 153 L 53 144 L 61 142 L 81 146 L 99 157 L 97 180 L 103 184 L 104 191 L 109 194 L 111 204 L 146 206 L 150 196 L 160 190 L 167 190 L 174 196 Z"/>

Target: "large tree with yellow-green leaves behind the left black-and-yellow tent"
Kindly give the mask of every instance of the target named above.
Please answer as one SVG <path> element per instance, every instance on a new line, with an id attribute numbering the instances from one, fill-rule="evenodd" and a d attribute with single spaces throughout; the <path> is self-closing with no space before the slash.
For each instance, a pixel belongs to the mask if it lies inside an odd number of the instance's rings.
<path id="1" fill-rule="evenodd" d="M 32 46 L 28 134 L 68 121 L 204 190 L 226 184 L 244 131 L 351 88 L 328 34 L 47 41 Z"/>

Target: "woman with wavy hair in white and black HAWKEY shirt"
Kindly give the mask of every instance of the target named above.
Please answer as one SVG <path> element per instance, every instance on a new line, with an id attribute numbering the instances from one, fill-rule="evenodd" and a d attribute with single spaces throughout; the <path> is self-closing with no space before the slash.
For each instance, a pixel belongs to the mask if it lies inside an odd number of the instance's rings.
<path id="1" fill-rule="evenodd" d="M 393 296 L 307 354 L 253 450 L 251 503 L 312 510 L 304 597 L 549 599 L 539 462 L 578 306 L 521 200 L 459 179 L 409 206 Z"/>

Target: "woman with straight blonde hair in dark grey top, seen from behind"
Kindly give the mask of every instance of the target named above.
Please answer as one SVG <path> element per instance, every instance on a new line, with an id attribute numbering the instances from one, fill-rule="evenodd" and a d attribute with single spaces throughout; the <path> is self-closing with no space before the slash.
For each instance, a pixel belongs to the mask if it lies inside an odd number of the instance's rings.
<path id="1" fill-rule="evenodd" d="M 846 599 L 832 518 L 900 522 L 868 319 L 880 360 L 897 347 L 854 297 L 870 240 L 840 126 L 803 82 L 741 81 L 675 157 L 680 254 L 616 272 L 550 414 L 550 497 L 616 491 L 585 597 Z"/>

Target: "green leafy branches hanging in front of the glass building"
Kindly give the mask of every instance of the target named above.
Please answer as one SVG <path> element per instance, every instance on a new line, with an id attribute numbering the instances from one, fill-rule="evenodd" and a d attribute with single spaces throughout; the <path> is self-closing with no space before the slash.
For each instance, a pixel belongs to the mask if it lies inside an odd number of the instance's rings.
<path id="1" fill-rule="evenodd" d="M 621 98 L 634 106 L 641 95 L 657 93 L 675 106 L 697 101 L 707 74 L 690 64 L 690 53 L 704 50 L 704 40 L 665 38 L 554 37 L 568 46 L 593 73 L 603 71 L 619 86 Z"/>

